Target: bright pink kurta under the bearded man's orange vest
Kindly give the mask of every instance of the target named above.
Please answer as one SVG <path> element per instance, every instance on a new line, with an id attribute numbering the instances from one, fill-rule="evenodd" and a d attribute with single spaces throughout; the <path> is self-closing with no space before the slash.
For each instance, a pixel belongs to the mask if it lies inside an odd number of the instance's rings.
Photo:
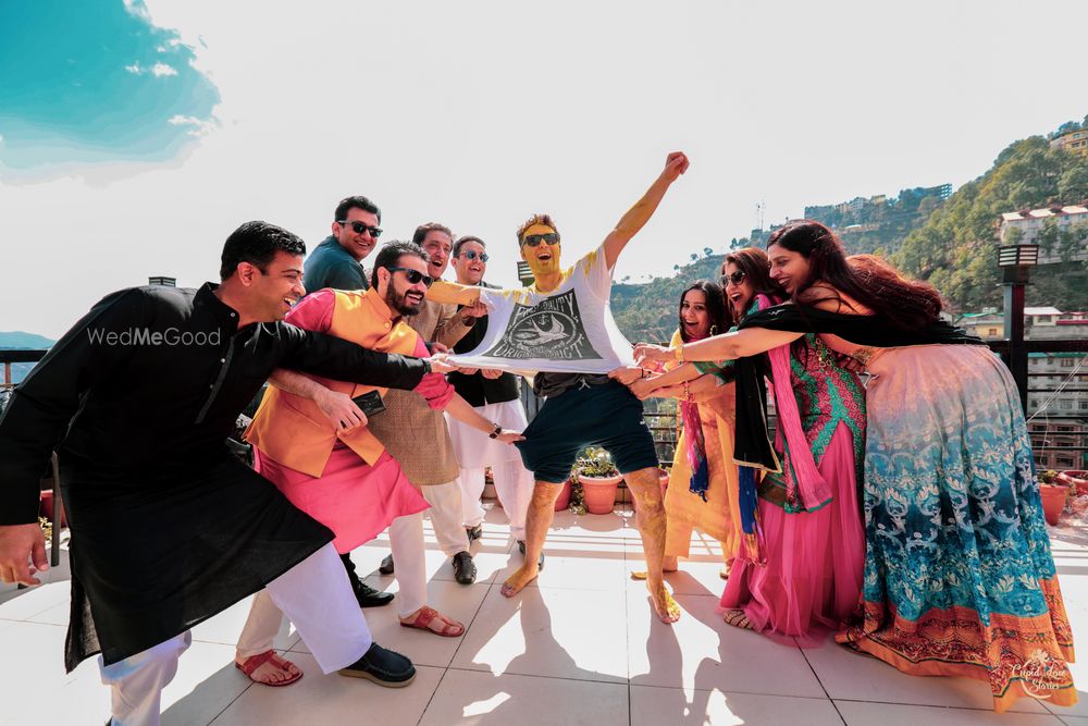
<path id="1" fill-rule="evenodd" d="M 331 290 L 319 291 L 287 313 L 286 320 L 305 330 L 325 332 L 332 321 L 334 303 Z M 413 354 L 429 355 L 422 340 L 416 342 Z M 453 386 L 441 373 L 424 376 L 415 391 L 435 409 L 445 408 L 454 395 Z M 338 443 L 318 478 L 288 468 L 260 450 L 255 450 L 254 455 L 258 472 L 275 484 L 292 504 L 333 530 L 336 536 L 333 545 L 339 553 L 350 552 L 374 539 L 397 517 L 430 506 L 388 452 L 382 453 L 374 466 L 370 466 Z"/>

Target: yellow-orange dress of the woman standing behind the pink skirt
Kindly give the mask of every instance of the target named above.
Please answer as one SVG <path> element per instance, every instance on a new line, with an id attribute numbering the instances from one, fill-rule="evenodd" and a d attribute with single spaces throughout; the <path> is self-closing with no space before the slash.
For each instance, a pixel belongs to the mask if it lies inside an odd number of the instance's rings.
<path id="1" fill-rule="evenodd" d="M 670 347 L 681 342 L 680 332 L 672 335 Z M 740 489 L 737 465 L 733 464 L 733 430 L 735 427 L 735 393 L 732 383 L 719 387 L 714 399 L 700 403 L 698 417 L 703 424 L 706 462 L 710 485 L 706 502 L 688 491 L 691 467 L 684 434 L 677 440 L 676 456 L 669 488 L 665 493 L 665 554 L 687 557 L 692 530 L 698 530 L 721 543 L 728 559 L 737 555 L 741 542 Z"/>

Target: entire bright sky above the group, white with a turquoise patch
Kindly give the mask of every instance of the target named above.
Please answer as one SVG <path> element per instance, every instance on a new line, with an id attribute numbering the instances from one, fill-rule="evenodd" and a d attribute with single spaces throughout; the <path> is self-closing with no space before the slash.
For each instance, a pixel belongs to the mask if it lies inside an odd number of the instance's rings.
<path id="1" fill-rule="evenodd" d="M 283 7 L 279 7 L 283 5 Z M 1088 114 L 1083 2 L 0 0 L 0 331 L 213 280 L 264 219 L 312 248 L 363 194 L 385 238 L 555 218 L 569 263 L 691 169 L 616 279 L 806 205 L 981 175 Z M 447 276 L 452 276 L 449 271 Z"/>

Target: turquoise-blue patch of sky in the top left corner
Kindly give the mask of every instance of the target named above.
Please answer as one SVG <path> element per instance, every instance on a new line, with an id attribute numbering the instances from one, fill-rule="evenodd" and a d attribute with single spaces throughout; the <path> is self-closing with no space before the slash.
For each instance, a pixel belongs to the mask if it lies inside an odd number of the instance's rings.
<path id="1" fill-rule="evenodd" d="M 140 1 L 4 0 L 0 48 L 4 171 L 166 160 L 219 102 Z"/>

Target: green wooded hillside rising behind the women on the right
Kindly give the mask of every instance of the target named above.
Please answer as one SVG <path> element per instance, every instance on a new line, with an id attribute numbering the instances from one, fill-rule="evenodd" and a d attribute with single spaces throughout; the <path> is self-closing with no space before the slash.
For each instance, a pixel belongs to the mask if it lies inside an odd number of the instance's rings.
<path id="1" fill-rule="evenodd" d="M 1063 124 L 1060 133 L 1079 124 Z M 1088 127 L 1088 118 L 1085 119 Z M 1051 133 L 1053 138 L 1059 132 Z M 937 187 L 934 187 L 936 189 Z M 864 223 L 836 231 L 851 254 L 889 255 L 904 272 L 932 283 L 956 311 L 999 305 L 998 230 L 1001 214 L 1052 205 L 1088 200 L 1088 157 L 1051 149 L 1049 139 L 1033 136 L 1015 141 L 998 155 L 993 165 L 941 201 L 932 189 L 904 189 L 897 199 L 870 198 L 863 218 L 833 217 L 834 206 L 808 208 L 829 223 Z M 913 197 L 913 198 L 912 198 Z M 764 247 L 770 231 L 752 242 Z M 1088 223 L 1061 233 L 1044 226 L 1041 244 L 1061 253 L 1063 261 L 1031 271 L 1028 305 L 1053 305 L 1062 310 L 1088 310 L 1088 266 L 1073 256 L 1088 243 Z M 715 243 L 718 244 L 718 243 Z M 733 239 L 733 248 L 750 244 Z M 670 278 L 645 284 L 616 284 L 611 306 L 616 322 L 631 342 L 667 343 L 677 327 L 680 292 L 701 278 L 718 280 L 721 255 L 704 256 L 676 266 Z M 695 256 L 693 256 L 695 257 Z"/>

